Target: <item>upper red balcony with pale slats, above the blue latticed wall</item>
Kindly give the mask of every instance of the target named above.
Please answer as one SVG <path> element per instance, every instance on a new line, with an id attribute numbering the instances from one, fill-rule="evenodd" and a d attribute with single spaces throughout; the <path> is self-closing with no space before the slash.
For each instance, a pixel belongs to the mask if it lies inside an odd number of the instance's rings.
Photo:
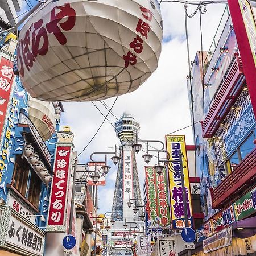
<path id="1" fill-rule="evenodd" d="M 222 80 L 220 89 L 214 97 L 214 102 L 205 117 L 203 126 L 204 138 L 212 138 L 221 121 L 228 114 L 230 107 L 237 100 L 242 90 L 243 68 L 242 61 L 237 53 Z"/>

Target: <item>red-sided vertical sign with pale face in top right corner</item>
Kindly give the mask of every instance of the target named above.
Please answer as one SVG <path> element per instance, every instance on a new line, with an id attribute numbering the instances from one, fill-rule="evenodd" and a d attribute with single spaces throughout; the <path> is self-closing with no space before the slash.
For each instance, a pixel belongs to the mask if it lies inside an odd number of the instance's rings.
<path id="1" fill-rule="evenodd" d="M 253 10 L 247 0 L 228 0 L 228 5 L 251 104 L 256 113 L 256 25 Z"/>

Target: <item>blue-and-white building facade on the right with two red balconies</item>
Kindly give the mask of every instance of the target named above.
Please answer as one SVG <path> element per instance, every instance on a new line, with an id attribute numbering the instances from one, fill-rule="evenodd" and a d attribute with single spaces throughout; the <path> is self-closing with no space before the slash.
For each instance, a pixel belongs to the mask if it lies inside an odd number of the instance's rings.
<path id="1" fill-rule="evenodd" d="M 249 2 L 235 2 L 255 27 Z M 240 19 L 228 17 L 214 51 L 197 52 L 187 81 L 205 216 L 197 229 L 202 255 L 255 255 L 255 92 L 246 81 L 245 67 L 250 63 L 242 58 L 246 38 L 241 43 L 232 18 Z M 245 20 L 240 22 L 248 27 Z M 255 30 L 249 33 L 255 35 Z M 255 66 L 250 68 L 256 73 Z M 227 239 L 221 240 L 221 234 Z"/>

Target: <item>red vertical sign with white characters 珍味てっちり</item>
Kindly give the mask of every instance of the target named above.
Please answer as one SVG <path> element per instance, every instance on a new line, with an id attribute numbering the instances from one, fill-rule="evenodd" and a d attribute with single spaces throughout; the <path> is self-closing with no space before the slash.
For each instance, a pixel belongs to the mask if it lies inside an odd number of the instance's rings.
<path id="1" fill-rule="evenodd" d="M 52 181 L 51 198 L 49 201 L 47 231 L 54 231 L 54 227 L 56 226 L 58 227 L 58 231 L 61 231 L 61 229 L 65 230 L 71 156 L 72 146 L 61 146 L 61 144 L 57 144 L 54 163 L 55 175 Z"/>

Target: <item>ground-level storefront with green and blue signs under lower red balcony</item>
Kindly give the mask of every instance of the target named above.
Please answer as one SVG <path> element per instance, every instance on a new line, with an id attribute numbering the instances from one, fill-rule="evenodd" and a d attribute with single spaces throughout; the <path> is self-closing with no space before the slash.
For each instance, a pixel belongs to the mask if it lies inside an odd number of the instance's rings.
<path id="1" fill-rule="evenodd" d="M 196 230 L 203 248 L 193 255 L 256 255 L 256 188 Z M 253 217 L 251 217 L 253 216 Z"/>

